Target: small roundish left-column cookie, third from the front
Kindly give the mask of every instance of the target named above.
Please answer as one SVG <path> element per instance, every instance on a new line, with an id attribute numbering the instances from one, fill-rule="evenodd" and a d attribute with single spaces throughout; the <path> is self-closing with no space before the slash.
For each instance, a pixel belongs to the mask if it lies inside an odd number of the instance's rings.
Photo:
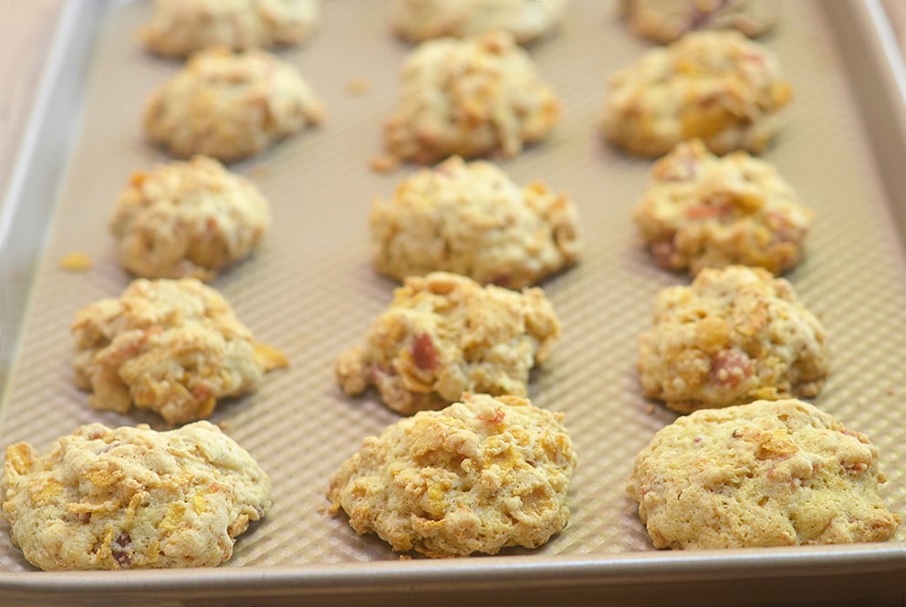
<path id="1" fill-rule="evenodd" d="M 269 226 L 255 185 L 204 156 L 133 173 L 109 224 L 132 274 L 205 281 L 248 256 Z"/>

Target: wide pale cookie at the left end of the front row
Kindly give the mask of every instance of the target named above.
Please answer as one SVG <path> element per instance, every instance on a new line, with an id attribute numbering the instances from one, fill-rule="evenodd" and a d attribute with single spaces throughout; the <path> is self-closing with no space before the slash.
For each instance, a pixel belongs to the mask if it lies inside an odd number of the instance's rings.
<path id="1" fill-rule="evenodd" d="M 208 422 L 89 424 L 38 455 L 6 447 L 3 516 L 42 570 L 213 567 L 270 507 L 255 459 Z"/>

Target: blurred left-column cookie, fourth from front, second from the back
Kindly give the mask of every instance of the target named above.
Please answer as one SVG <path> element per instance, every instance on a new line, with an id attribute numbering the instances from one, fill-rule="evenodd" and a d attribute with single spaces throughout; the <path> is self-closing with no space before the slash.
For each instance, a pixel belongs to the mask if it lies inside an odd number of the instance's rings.
<path id="1" fill-rule="evenodd" d="M 261 152 L 324 119 L 296 68 L 262 50 L 204 50 L 151 96 L 145 133 L 173 156 L 224 162 Z"/>

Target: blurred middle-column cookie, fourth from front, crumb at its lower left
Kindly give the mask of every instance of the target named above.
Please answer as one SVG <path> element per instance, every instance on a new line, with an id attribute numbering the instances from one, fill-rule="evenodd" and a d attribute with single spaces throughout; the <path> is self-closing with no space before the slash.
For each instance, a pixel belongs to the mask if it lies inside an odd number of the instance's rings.
<path id="1" fill-rule="evenodd" d="M 422 42 L 403 61 L 401 80 L 384 143 L 411 162 L 515 156 L 547 138 L 560 117 L 557 94 L 505 32 Z"/>

